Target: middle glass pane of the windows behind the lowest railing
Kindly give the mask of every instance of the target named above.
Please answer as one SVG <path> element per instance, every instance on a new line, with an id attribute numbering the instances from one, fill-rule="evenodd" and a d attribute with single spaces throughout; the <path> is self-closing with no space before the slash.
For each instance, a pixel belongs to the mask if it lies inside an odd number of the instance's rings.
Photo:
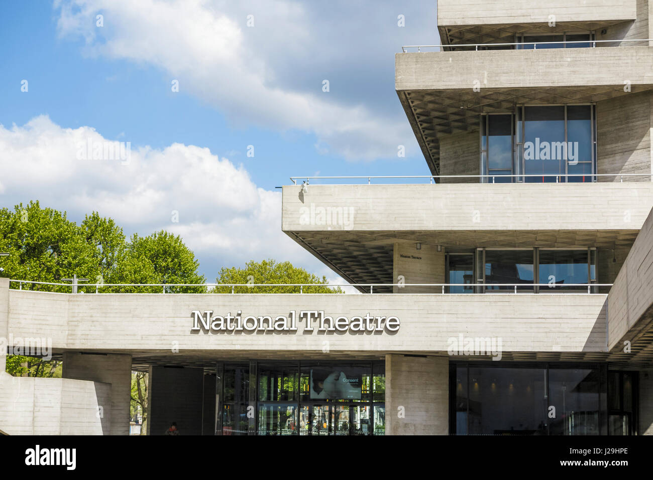
<path id="1" fill-rule="evenodd" d="M 486 250 L 485 251 L 485 290 L 501 291 L 515 290 L 518 292 L 530 291 L 532 286 L 519 286 L 520 284 L 533 284 L 533 250 Z M 507 284 L 500 286 L 497 284 Z"/>

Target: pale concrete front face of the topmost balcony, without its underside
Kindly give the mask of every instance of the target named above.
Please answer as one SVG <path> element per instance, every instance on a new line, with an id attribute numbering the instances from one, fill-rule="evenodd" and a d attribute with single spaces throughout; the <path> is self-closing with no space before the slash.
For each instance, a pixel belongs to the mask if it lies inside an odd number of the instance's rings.
<path id="1" fill-rule="evenodd" d="M 438 0 L 438 26 L 633 20 L 635 0 Z M 644 37 L 642 37 L 644 38 Z"/>

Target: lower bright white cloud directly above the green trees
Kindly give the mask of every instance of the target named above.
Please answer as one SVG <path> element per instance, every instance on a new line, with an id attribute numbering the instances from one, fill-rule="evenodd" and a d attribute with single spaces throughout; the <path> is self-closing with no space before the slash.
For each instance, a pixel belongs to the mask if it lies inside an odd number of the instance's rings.
<path id="1" fill-rule="evenodd" d="M 112 142 L 91 127 L 61 128 L 46 115 L 22 127 L 0 125 L 1 205 L 39 200 L 78 222 L 95 210 L 125 233 L 181 235 L 209 282 L 221 266 L 263 258 L 334 278 L 281 232 L 281 194 L 257 187 L 242 165 L 180 143 L 132 150 L 128 163 L 80 160 L 89 139 Z M 172 221 L 173 211 L 179 222 Z"/>

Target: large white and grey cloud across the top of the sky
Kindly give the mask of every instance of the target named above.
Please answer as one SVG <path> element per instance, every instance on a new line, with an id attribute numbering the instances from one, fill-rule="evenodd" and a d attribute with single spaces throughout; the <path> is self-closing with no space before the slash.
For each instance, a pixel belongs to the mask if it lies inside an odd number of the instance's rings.
<path id="1" fill-rule="evenodd" d="M 315 72 L 312 91 L 279 80 L 277 72 L 287 70 L 289 59 L 334 53 L 334 45 L 311 35 L 319 19 L 299 3 L 57 0 L 55 8 L 60 35 L 83 37 L 86 54 L 161 68 L 170 81 L 179 81 L 180 91 L 209 102 L 236 124 L 310 132 L 321 152 L 349 159 L 396 158 L 400 144 L 416 149 L 403 115 L 379 115 L 360 102 L 338 102 L 334 93 L 324 93 L 322 81 L 334 74 L 328 66 Z M 95 26 L 98 13 L 103 27 Z M 252 28 L 247 14 L 253 15 Z M 342 55 L 346 52 L 343 48 Z M 391 66 L 391 51 L 387 62 Z M 301 70 L 301 63 L 295 69 Z M 390 90 L 387 95 L 394 97 Z"/>

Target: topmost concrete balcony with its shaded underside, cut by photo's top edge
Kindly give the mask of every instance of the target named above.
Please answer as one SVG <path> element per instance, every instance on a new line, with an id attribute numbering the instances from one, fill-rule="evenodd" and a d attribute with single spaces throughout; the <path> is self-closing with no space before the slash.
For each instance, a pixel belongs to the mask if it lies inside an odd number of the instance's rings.
<path id="1" fill-rule="evenodd" d="M 611 25 L 645 21 L 636 0 L 439 0 L 438 29 L 443 43 L 502 40 L 515 33 L 549 32 L 555 21 L 560 31 L 590 31 Z M 644 3 L 644 2 L 639 2 Z M 621 29 L 620 29 L 621 30 Z"/>

